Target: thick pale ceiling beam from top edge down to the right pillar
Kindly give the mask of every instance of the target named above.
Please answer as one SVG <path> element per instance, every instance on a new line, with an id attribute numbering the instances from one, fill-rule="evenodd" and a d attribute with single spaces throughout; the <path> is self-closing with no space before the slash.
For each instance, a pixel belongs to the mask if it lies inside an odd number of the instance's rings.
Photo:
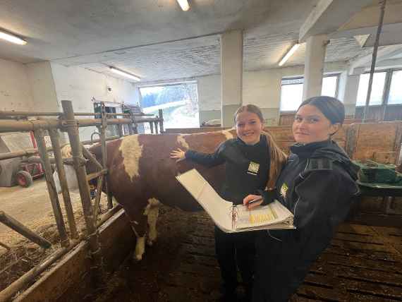
<path id="1" fill-rule="evenodd" d="M 320 0 L 300 28 L 299 42 L 305 42 L 312 35 L 338 30 L 355 13 L 370 4 L 372 0 Z"/>

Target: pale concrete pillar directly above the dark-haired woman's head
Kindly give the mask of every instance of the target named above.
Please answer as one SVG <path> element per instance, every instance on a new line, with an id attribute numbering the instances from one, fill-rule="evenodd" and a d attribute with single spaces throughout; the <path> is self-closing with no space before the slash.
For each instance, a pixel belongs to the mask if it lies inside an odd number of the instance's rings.
<path id="1" fill-rule="evenodd" d="M 305 48 L 305 67 L 303 100 L 321 95 L 322 72 L 324 70 L 327 35 L 315 35 L 307 38 Z"/>

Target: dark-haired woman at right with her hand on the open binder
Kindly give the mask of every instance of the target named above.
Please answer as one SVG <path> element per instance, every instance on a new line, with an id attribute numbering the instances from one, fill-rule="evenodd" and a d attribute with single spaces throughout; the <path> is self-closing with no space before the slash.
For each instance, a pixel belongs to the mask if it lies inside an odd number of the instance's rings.
<path id="1" fill-rule="evenodd" d="M 331 140 L 344 119 L 343 104 L 334 97 L 312 97 L 298 108 L 293 122 L 296 144 L 276 190 L 265 191 L 260 202 L 279 200 L 293 212 L 296 229 L 257 234 L 253 302 L 288 301 L 329 245 L 359 192 L 358 168 Z M 257 197 L 248 195 L 243 203 Z"/>

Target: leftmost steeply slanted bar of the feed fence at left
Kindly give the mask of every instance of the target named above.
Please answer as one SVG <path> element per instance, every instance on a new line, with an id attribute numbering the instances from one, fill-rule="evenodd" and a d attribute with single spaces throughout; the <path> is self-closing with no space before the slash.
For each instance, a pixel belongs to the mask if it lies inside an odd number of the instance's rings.
<path id="1" fill-rule="evenodd" d="M 43 162 L 44 176 L 46 178 L 47 191 L 49 191 L 49 198 L 51 207 L 53 208 L 54 218 L 56 219 L 57 229 L 59 230 L 61 246 L 68 246 L 70 244 L 66 232 L 66 225 L 64 224 L 63 215 L 61 214 L 61 207 L 59 196 L 56 192 L 56 185 L 54 184 L 53 174 L 51 173 L 51 164 L 49 155 L 46 150 L 46 143 L 44 142 L 44 130 L 38 128 L 35 131 L 35 139 L 39 156 Z"/>

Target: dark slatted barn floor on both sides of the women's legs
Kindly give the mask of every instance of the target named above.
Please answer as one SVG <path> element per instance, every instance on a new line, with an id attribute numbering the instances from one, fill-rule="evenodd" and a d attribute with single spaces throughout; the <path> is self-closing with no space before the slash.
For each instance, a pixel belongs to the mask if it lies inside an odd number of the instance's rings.
<path id="1" fill-rule="evenodd" d="M 159 238 L 85 301 L 215 301 L 219 268 L 205 214 L 162 208 Z M 402 230 L 343 224 L 292 301 L 402 301 Z"/>

